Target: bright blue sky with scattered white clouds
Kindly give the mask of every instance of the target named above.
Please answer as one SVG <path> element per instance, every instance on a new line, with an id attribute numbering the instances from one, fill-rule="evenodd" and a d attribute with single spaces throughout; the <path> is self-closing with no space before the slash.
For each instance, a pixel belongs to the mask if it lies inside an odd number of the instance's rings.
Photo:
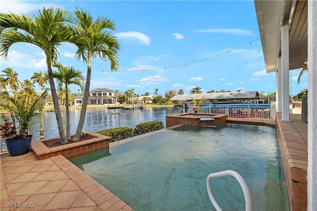
<path id="1" fill-rule="evenodd" d="M 252 0 L 1 0 L 0 11 L 33 15 L 50 6 L 71 12 L 82 8 L 95 19 L 107 17 L 116 25 L 109 32 L 120 44 L 119 69 L 111 72 L 109 61 L 94 59 L 90 90 L 134 88 L 140 95 L 154 94 L 155 89 L 161 95 L 180 89 L 187 94 L 195 86 L 202 92 L 276 90 L 275 73 L 265 71 Z M 75 45 L 63 43 L 58 47 L 58 59 L 86 74 L 87 64 L 75 59 L 75 51 Z M 26 43 L 13 44 L 8 58 L 1 57 L 0 62 L 1 70 L 12 68 L 20 81 L 47 71 L 44 52 Z M 299 73 L 290 71 L 290 94 L 308 86 L 307 74 L 297 84 Z M 77 93 L 79 87 L 70 88 Z"/>

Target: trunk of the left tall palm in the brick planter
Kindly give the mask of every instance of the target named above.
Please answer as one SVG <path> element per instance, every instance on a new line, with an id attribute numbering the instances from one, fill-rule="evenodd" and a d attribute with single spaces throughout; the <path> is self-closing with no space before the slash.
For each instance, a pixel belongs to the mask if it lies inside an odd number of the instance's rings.
<path id="1" fill-rule="evenodd" d="M 66 143 L 68 143 L 68 141 L 67 141 L 66 136 L 65 136 L 65 131 L 64 131 L 64 127 L 63 127 L 63 120 L 61 118 L 61 112 L 60 112 L 60 108 L 59 108 L 58 96 L 57 96 L 57 92 L 56 92 L 56 88 L 55 88 L 51 62 L 47 61 L 47 64 L 48 64 L 49 81 L 50 81 L 50 86 L 51 86 L 51 93 L 52 93 L 52 98 L 53 98 L 53 104 L 54 104 L 54 109 L 55 109 L 55 116 L 56 116 L 60 141 L 62 144 L 66 144 Z"/>

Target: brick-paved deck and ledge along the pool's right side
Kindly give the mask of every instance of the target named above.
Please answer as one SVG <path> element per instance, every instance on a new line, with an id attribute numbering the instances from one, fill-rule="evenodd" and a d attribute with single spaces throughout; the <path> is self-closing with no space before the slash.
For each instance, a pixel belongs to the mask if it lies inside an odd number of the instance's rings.
<path id="1" fill-rule="evenodd" d="M 290 115 L 293 121 L 281 121 L 282 114 L 276 113 L 276 132 L 291 211 L 307 210 L 308 145 L 301 134 L 306 131 L 307 136 L 307 123 L 300 116 Z"/>

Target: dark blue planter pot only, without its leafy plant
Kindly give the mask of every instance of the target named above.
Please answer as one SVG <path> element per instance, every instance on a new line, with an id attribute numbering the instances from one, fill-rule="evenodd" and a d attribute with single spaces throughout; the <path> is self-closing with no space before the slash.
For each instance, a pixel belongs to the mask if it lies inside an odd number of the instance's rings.
<path id="1" fill-rule="evenodd" d="M 32 136 L 33 135 L 29 135 L 26 139 L 6 139 L 5 145 L 9 154 L 11 156 L 19 156 L 28 153 L 31 147 Z"/>

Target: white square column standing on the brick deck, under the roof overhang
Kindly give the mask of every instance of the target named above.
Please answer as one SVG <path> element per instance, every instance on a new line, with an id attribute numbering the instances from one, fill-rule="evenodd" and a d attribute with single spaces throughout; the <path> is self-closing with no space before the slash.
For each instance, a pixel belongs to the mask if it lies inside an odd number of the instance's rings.
<path id="1" fill-rule="evenodd" d="M 289 121 L 289 30 L 282 26 L 282 121 Z"/>

